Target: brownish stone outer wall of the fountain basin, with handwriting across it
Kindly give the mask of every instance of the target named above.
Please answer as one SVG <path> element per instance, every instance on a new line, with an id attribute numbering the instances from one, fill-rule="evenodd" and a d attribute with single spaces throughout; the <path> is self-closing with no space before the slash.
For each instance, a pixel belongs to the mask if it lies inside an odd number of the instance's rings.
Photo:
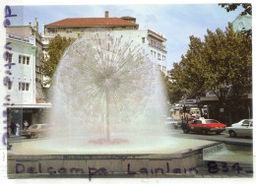
<path id="1" fill-rule="evenodd" d="M 203 149 L 219 144 L 211 143 L 177 153 L 37 155 L 9 153 L 8 177 L 176 177 L 203 164 Z M 173 173 L 178 169 L 181 173 Z M 146 171 L 148 174 L 145 174 Z M 184 174 L 191 175 L 191 173 Z"/>

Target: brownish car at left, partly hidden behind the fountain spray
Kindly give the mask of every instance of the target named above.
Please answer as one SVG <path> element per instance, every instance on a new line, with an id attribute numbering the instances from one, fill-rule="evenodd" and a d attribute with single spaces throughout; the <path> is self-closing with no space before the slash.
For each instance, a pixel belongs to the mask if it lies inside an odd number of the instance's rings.
<path id="1" fill-rule="evenodd" d="M 48 124 L 33 124 L 27 130 L 21 130 L 20 135 L 27 138 L 41 138 L 49 134 Z"/>

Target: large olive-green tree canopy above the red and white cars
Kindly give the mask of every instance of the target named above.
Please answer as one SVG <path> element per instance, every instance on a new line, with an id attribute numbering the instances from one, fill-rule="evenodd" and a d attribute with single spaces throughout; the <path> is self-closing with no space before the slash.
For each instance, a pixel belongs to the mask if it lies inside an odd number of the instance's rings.
<path id="1" fill-rule="evenodd" d="M 225 31 L 207 31 L 204 41 L 191 35 L 189 49 L 171 70 L 173 99 L 202 96 L 230 88 L 238 96 L 252 85 L 252 42 L 243 32 L 234 32 L 228 24 Z"/>

